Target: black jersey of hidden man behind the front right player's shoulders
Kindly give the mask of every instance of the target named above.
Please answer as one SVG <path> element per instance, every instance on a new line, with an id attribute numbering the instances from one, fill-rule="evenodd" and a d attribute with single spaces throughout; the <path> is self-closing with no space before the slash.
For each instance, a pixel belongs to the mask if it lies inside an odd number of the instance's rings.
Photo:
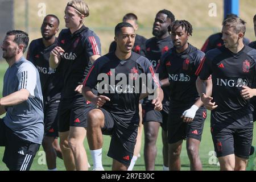
<path id="1" fill-rule="evenodd" d="M 222 38 L 222 33 L 219 32 L 217 34 L 210 35 L 209 38 L 205 41 L 203 47 L 201 48 L 201 51 L 206 53 L 210 49 L 214 49 L 217 47 L 221 47 L 224 45 Z M 250 40 L 247 38 L 243 38 L 243 44 L 248 45 L 250 43 Z"/>

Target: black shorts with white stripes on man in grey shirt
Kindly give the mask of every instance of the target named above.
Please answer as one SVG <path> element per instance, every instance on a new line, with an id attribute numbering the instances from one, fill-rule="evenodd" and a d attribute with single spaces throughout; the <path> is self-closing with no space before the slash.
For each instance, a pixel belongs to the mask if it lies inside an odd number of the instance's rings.
<path id="1" fill-rule="evenodd" d="M 5 146 L 3 162 L 10 171 L 29 171 L 40 144 L 19 138 L 0 119 L 0 146 Z"/>

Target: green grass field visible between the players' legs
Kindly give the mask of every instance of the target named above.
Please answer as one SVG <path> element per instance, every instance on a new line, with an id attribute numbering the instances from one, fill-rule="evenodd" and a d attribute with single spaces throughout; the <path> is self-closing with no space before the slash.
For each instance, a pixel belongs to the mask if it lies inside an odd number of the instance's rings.
<path id="1" fill-rule="evenodd" d="M 0 63 L 0 88 L 2 88 L 3 84 L 3 75 L 5 73 L 5 70 L 7 68 L 7 64 L 5 62 Z M 2 90 L 1 90 L 1 96 L 2 96 Z M 1 117 L 2 118 L 2 117 Z M 158 155 L 156 156 L 156 162 L 155 162 L 155 170 L 161 171 L 163 166 L 163 156 L 162 156 L 162 139 L 161 139 L 161 130 L 159 130 L 159 137 L 157 141 L 157 148 L 158 148 Z M 255 130 L 254 130 L 255 135 Z M 144 146 L 144 137 L 142 139 L 142 150 L 141 150 L 141 158 L 138 158 L 137 163 L 135 164 L 134 170 L 144 170 L 144 159 L 143 159 L 143 146 Z M 103 147 L 103 154 L 102 154 L 102 162 L 104 165 L 105 170 L 111 170 L 112 166 L 112 159 L 106 156 L 108 153 L 110 143 L 110 137 L 105 136 L 104 137 L 104 147 Z M 255 146 L 256 140 L 253 140 L 253 145 Z M 89 163 L 92 164 L 92 158 L 90 157 L 90 151 L 88 147 L 88 143 L 85 140 L 84 143 L 86 152 L 88 154 Z M 2 160 L 4 148 L 0 147 L 0 158 Z M 210 121 L 209 121 L 209 113 L 208 117 L 205 121 L 204 125 L 204 132 L 203 137 L 201 141 L 200 146 L 200 158 L 201 162 L 203 164 L 203 170 L 204 171 L 213 171 L 213 170 L 219 170 L 219 167 L 216 165 L 217 160 L 213 156 L 213 144 L 212 144 L 212 137 L 210 135 Z M 38 151 L 38 154 L 35 156 L 34 162 L 32 164 L 31 170 L 36 171 L 46 171 L 46 159 L 44 158 L 44 152 L 43 148 L 40 147 L 40 150 Z M 63 161 L 60 159 L 57 159 L 57 169 L 58 170 L 65 170 Z M 90 168 L 92 169 L 92 168 Z M 5 164 L 0 161 L 0 171 L 8 170 Z M 181 152 L 181 170 L 187 171 L 189 170 L 189 160 L 187 156 L 187 151 L 185 149 L 185 141 L 183 142 L 183 150 Z"/>

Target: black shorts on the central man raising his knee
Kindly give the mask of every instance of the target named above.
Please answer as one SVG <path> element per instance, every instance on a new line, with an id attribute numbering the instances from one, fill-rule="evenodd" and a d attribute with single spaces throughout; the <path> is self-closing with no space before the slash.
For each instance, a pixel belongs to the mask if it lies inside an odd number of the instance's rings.
<path id="1" fill-rule="evenodd" d="M 112 135 L 108 156 L 129 166 L 136 144 L 138 121 L 130 124 L 124 123 L 117 115 L 109 113 L 103 108 L 100 110 L 105 118 L 102 134 Z"/>

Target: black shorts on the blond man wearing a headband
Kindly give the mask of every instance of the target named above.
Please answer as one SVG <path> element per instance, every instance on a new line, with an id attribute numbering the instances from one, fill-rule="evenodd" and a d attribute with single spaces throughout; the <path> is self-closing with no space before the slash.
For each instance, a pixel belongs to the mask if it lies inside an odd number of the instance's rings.
<path id="1" fill-rule="evenodd" d="M 59 132 L 69 131 L 70 126 L 87 127 L 87 113 L 95 107 L 90 101 L 85 101 L 81 95 L 61 100 L 58 119 Z"/>

